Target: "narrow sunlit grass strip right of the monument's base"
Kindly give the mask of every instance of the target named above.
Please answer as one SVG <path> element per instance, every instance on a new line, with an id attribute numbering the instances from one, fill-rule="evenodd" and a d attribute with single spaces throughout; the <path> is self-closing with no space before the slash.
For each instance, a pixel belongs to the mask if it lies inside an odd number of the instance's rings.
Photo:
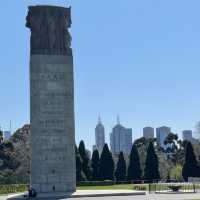
<path id="1" fill-rule="evenodd" d="M 146 190 L 148 185 L 143 184 L 141 190 Z M 107 185 L 107 186 L 80 186 L 77 190 L 138 190 L 141 185 L 121 184 L 121 185 Z"/>

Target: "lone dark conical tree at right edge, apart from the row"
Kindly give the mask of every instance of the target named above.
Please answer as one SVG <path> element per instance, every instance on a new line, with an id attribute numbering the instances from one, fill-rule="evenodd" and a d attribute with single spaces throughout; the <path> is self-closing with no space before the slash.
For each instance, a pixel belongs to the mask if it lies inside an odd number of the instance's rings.
<path id="1" fill-rule="evenodd" d="M 183 165 L 182 175 L 185 181 L 188 181 L 188 177 L 198 177 L 200 169 L 197 164 L 196 156 L 190 142 L 187 142 L 185 151 L 185 163 Z"/>

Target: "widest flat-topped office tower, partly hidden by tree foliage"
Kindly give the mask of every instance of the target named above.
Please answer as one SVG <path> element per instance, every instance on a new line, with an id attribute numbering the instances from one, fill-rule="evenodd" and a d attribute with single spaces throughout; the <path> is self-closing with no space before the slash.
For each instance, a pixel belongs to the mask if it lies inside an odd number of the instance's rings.
<path id="1" fill-rule="evenodd" d="M 170 134 L 170 132 L 171 132 L 171 128 L 167 127 L 167 126 L 162 126 L 162 127 L 156 128 L 157 142 L 164 149 L 166 149 L 168 147 L 168 145 L 164 144 L 164 141 L 165 141 L 166 137 Z"/>

